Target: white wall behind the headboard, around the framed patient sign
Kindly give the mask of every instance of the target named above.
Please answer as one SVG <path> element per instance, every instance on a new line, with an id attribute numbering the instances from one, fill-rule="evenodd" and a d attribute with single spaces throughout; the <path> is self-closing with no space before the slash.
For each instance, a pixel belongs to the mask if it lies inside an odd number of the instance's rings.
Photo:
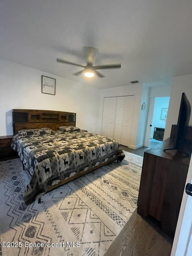
<path id="1" fill-rule="evenodd" d="M 41 93 L 41 75 L 56 79 L 55 95 Z M 76 126 L 98 133 L 100 90 L 0 59 L 0 136 L 12 135 L 12 109 L 76 113 Z"/>

